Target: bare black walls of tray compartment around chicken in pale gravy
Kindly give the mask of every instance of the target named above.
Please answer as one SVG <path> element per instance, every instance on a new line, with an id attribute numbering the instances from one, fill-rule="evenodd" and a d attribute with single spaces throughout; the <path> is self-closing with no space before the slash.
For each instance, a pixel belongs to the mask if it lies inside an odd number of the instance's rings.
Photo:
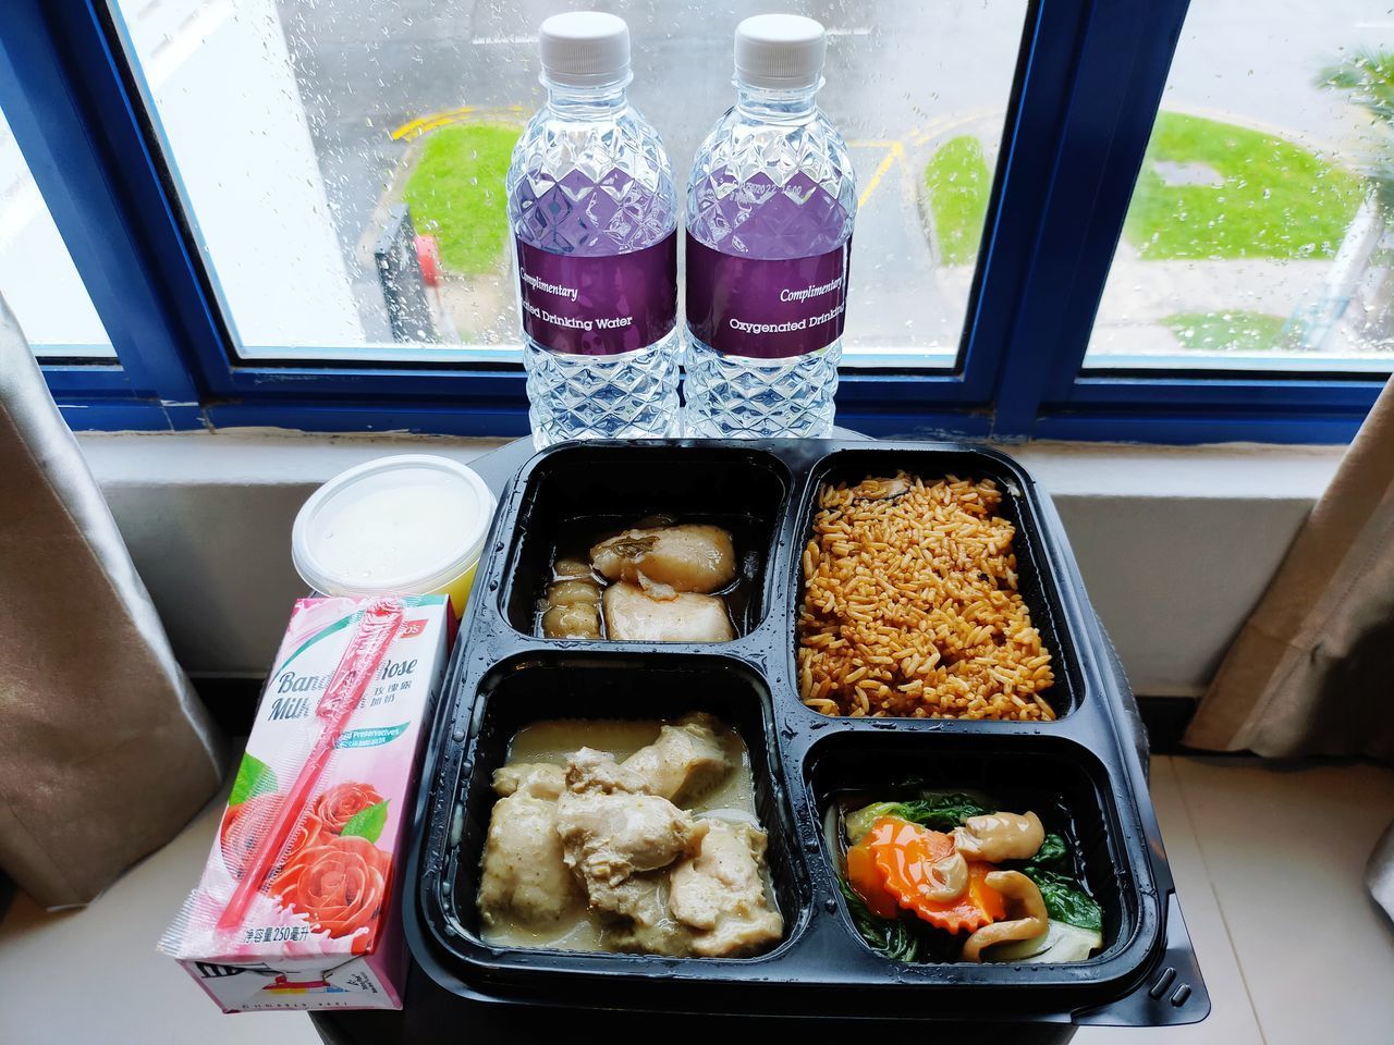
<path id="1" fill-rule="evenodd" d="M 740 662 L 693 653 L 548 651 L 510 659 L 489 672 L 480 686 L 454 790 L 450 835 L 457 840 L 445 839 L 442 886 L 434 890 L 432 897 L 449 927 L 441 943 L 487 974 L 510 964 L 528 974 L 587 967 L 643 971 L 654 961 L 703 968 L 732 963 L 744 966 L 783 949 L 807 918 L 810 886 L 807 869 L 797 854 L 790 805 L 771 740 L 769 701 L 768 688 Z M 676 719 L 691 711 L 711 712 L 726 722 L 750 752 L 756 812 L 769 835 L 765 860 L 785 920 L 785 940 L 767 954 L 747 959 L 514 950 L 485 943 L 480 935 L 475 895 L 489 814 L 496 801 L 491 782 L 493 771 L 507 761 L 507 747 L 517 732 L 548 719 Z"/>

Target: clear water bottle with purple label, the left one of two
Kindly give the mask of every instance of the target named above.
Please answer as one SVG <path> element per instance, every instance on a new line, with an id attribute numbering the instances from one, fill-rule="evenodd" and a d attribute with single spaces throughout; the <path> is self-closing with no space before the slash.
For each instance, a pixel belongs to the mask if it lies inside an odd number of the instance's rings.
<path id="1" fill-rule="evenodd" d="M 625 95 L 629 28 L 553 15 L 541 52 L 546 104 L 507 176 L 533 439 L 680 435 L 677 201 Z"/>

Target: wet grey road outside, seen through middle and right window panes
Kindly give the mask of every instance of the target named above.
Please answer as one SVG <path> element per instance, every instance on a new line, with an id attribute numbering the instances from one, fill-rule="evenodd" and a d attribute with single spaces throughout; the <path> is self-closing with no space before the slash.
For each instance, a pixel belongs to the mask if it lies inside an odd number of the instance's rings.
<path id="1" fill-rule="evenodd" d="M 682 183 L 703 135 L 733 98 L 732 31 L 771 4 L 647 0 L 597 7 L 630 24 L 631 99 L 664 135 Z M 999 124 L 1026 4 L 848 0 L 782 7 L 829 28 L 820 102 L 853 142 L 863 189 L 881 170 L 859 215 L 849 327 L 871 344 L 952 347 L 966 279 L 935 273 L 914 185 L 938 134 Z M 560 8 L 555 0 L 280 0 L 347 256 L 354 258 L 401 157 L 404 146 L 390 138 L 392 130 L 466 104 L 534 110 L 544 98 L 535 26 Z M 1359 130 L 1354 111 L 1312 79 L 1355 45 L 1394 46 L 1394 14 L 1362 0 L 1270 0 L 1260 8 L 1245 0 L 1197 0 L 1164 104 L 1234 113 L 1313 144 L 1348 146 Z M 372 274 L 360 277 L 371 319 L 381 300 L 374 298 Z"/>

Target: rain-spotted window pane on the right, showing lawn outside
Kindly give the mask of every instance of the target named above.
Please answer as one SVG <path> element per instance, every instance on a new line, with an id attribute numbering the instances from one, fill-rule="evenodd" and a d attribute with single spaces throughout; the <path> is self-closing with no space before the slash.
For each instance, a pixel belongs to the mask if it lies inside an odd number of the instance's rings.
<path id="1" fill-rule="evenodd" d="M 1394 17 L 1195 0 L 1086 366 L 1394 365 Z"/>

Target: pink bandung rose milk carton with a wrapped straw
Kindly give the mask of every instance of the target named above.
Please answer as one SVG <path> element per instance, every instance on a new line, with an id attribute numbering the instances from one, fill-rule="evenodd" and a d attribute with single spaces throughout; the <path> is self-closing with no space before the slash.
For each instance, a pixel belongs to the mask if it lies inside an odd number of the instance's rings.
<path id="1" fill-rule="evenodd" d="M 445 595 L 296 602 L 159 945 L 223 1012 L 401 1007 L 407 825 L 453 626 Z"/>

